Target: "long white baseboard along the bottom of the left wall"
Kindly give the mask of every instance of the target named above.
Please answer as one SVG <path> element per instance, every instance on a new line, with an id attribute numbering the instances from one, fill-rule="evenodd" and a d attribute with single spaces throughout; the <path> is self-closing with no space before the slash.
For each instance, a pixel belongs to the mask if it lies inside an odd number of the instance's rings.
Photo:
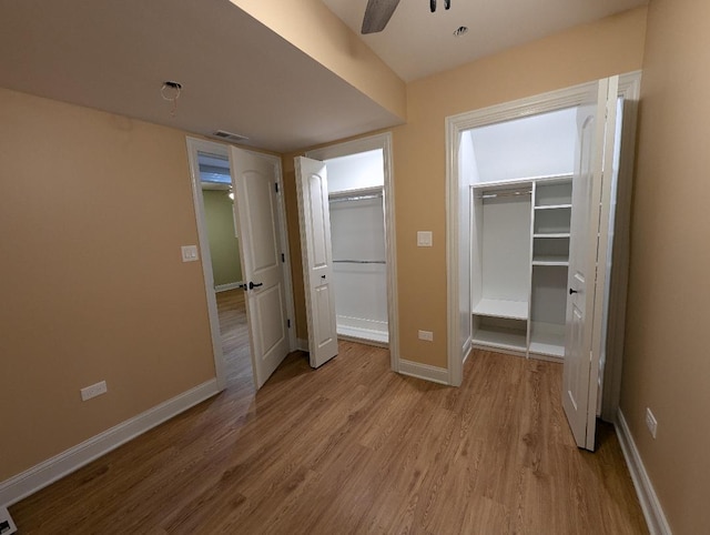
<path id="1" fill-rule="evenodd" d="M 210 380 L 1 482 L 0 504 L 19 502 L 219 392 Z"/>

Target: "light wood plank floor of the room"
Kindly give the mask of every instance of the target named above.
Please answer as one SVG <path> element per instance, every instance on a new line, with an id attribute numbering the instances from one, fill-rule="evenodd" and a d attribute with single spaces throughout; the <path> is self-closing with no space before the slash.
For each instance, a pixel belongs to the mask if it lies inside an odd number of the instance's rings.
<path id="1" fill-rule="evenodd" d="M 478 352 L 452 388 L 342 342 L 254 393 L 237 356 L 224 393 L 11 507 L 20 533 L 648 533 L 613 431 L 574 446 L 558 364 Z"/>

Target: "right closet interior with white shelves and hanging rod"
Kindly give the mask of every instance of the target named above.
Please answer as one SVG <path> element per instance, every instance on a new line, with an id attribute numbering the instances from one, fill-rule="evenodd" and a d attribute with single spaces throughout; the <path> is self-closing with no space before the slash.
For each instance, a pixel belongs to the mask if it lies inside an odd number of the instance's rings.
<path id="1" fill-rule="evenodd" d="M 471 190 L 471 344 L 565 355 L 578 107 L 463 132 Z"/>

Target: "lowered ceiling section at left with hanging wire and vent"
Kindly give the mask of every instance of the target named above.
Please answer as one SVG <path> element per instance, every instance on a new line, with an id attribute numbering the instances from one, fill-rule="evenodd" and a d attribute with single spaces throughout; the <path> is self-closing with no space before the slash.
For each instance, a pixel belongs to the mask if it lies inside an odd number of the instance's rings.
<path id="1" fill-rule="evenodd" d="M 2 0 L 0 87 L 277 152 L 400 122 L 229 0 Z"/>

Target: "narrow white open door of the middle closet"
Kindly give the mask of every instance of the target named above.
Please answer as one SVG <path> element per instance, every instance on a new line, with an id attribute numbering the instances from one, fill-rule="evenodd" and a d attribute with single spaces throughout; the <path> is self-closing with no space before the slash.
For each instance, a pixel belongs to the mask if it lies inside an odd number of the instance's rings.
<path id="1" fill-rule="evenodd" d="M 337 355 L 331 214 L 325 163 L 297 157 L 296 188 L 311 365 Z"/>

